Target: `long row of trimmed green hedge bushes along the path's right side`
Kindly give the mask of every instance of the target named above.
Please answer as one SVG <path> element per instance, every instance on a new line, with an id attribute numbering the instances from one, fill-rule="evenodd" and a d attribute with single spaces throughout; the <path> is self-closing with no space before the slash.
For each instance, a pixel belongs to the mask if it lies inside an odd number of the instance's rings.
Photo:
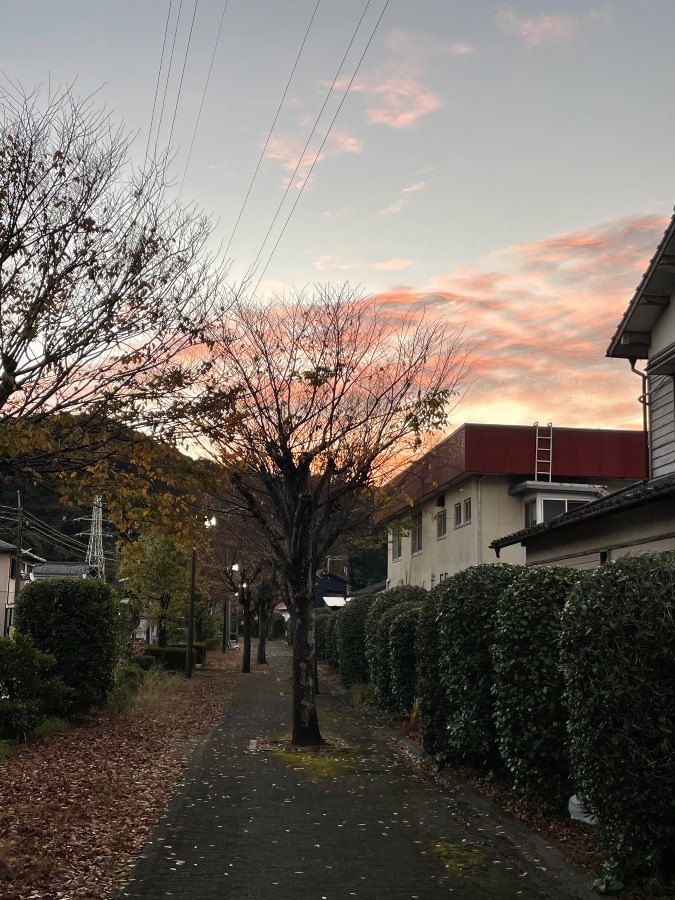
<path id="1" fill-rule="evenodd" d="M 576 792 L 609 859 L 600 891 L 672 884 L 674 598 L 675 553 L 590 573 L 473 566 L 347 605 L 325 655 L 345 684 L 365 656 L 378 702 L 414 706 L 439 762 L 503 766 L 517 793 L 556 803 Z"/>

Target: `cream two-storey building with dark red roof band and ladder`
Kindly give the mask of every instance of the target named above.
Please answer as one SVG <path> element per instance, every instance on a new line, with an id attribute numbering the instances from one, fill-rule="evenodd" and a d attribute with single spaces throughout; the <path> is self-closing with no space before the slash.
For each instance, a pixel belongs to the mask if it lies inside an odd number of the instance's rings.
<path id="1" fill-rule="evenodd" d="M 432 588 L 496 562 L 500 535 L 547 522 L 631 485 L 645 473 L 639 431 L 466 424 L 387 490 L 388 586 Z M 507 562 L 525 562 L 519 542 Z"/>

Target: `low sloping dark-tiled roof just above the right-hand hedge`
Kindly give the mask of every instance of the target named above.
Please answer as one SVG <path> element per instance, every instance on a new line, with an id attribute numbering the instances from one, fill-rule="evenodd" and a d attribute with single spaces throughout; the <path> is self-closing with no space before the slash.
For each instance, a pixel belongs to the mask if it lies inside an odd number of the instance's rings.
<path id="1" fill-rule="evenodd" d="M 636 506 L 643 506 L 657 500 L 665 500 L 672 496 L 675 496 L 675 474 L 662 475 L 660 478 L 653 478 L 650 481 L 641 481 L 638 484 L 629 485 L 629 487 L 614 491 L 606 497 L 601 497 L 599 500 L 591 500 L 584 506 L 580 506 L 562 516 L 556 516 L 548 522 L 541 522 L 539 525 L 533 525 L 531 528 L 523 528 L 521 531 L 497 538 L 490 544 L 490 547 L 499 556 L 499 551 L 502 547 L 509 547 L 511 544 L 527 544 L 529 541 L 536 541 L 540 535 L 550 534 L 552 531 L 571 528 L 589 519 L 599 519 L 603 516 L 614 515 Z"/>

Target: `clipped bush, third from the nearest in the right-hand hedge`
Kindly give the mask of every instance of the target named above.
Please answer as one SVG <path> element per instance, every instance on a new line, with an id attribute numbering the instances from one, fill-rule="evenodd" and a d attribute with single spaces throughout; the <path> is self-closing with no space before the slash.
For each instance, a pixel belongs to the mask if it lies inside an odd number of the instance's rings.
<path id="1" fill-rule="evenodd" d="M 486 563 L 435 588 L 441 604 L 439 687 L 447 715 L 443 750 L 470 765 L 500 761 L 490 647 L 500 594 L 522 571 L 522 566 Z"/>

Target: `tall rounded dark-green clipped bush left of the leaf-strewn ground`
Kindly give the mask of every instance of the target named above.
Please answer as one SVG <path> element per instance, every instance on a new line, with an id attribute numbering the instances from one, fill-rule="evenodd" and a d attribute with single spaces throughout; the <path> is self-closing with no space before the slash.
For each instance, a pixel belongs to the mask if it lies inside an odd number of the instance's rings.
<path id="1" fill-rule="evenodd" d="M 56 659 L 55 674 L 74 688 L 79 710 L 102 706 L 114 683 L 121 605 L 102 581 L 58 578 L 27 585 L 17 630 Z"/>

